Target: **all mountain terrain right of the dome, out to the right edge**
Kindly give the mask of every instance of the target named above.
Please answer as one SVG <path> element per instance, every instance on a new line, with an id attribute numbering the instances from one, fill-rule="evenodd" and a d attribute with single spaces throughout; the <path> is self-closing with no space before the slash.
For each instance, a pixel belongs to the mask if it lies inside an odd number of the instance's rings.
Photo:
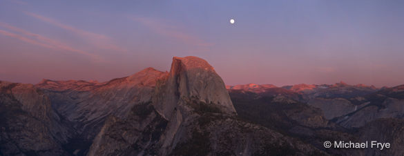
<path id="1" fill-rule="evenodd" d="M 282 89 L 271 88 L 262 92 L 228 87 L 233 105 L 243 119 L 269 128 L 280 128 L 283 133 L 297 136 L 329 154 L 403 155 L 404 150 L 398 147 L 404 145 L 401 136 L 403 86 L 377 89 L 337 83 L 300 84 Z M 284 100 L 276 100 L 277 97 Z M 324 140 L 376 140 L 389 142 L 395 147 L 383 151 L 374 148 L 336 150 L 323 148 Z"/>

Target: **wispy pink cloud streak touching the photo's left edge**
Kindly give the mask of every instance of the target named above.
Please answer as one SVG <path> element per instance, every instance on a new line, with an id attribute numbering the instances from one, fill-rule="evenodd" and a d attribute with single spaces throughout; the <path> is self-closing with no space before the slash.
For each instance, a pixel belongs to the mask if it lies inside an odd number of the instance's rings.
<path id="1" fill-rule="evenodd" d="M 11 26 L 8 23 L 2 23 L 0 22 L 0 27 L 6 28 L 9 31 L 6 30 L 0 30 L 1 35 L 5 35 L 8 37 L 13 37 L 15 39 L 19 39 L 21 41 L 24 41 L 26 43 L 30 43 L 32 45 L 36 46 L 41 46 L 44 48 L 50 48 L 53 50 L 67 50 L 70 52 L 77 52 L 81 55 L 86 55 L 90 57 L 93 60 L 96 61 L 101 61 L 100 57 L 98 55 L 92 54 L 90 52 L 86 52 L 84 50 L 79 50 L 76 48 L 73 48 L 71 46 L 68 46 L 67 43 L 63 43 L 61 41 L 57 41 L 55 39 L 49 39 L 47 37 L 44 37 L 42 35 L 38 35 L 32 32 L 28 32 L 27 30 L 23 30 L 21 28 L 17 28 L 15 26 Z M 10 30 L 12 32 L 10 32 Z"/>

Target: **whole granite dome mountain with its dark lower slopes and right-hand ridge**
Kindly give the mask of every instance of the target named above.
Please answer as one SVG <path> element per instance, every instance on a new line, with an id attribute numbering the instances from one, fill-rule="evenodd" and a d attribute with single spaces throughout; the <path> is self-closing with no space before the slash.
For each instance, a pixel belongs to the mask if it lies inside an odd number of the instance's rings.
<path id="1" fill-rule="evenodd" d="M 126 119 L 108 119 L 88 155 L 321 153 L 236 119 L 222 79 L 197 57 L 174 57 L 169 75 L 157 80 L 153 95 L 148 103 L 135 105 Z M 253 142 L 259 138 L 262 142 Z"/>

